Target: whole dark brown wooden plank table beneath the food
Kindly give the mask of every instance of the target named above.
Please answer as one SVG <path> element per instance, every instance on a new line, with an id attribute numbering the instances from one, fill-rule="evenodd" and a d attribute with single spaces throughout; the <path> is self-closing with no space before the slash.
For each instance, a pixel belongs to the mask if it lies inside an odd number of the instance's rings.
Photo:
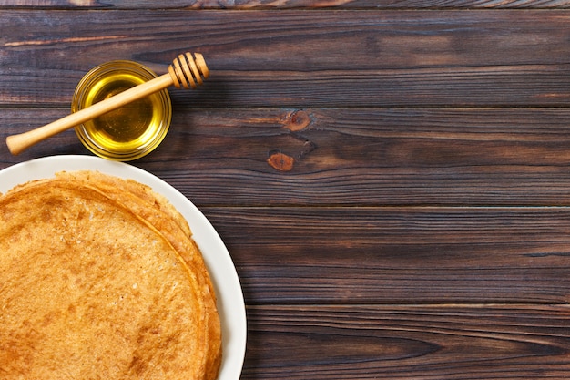
<path id="1" fill-rule="evenodd" d="M 570 378 L 566 7 L 1 1 L 0 139 L 100 63 L 201 52 L 209 81 L 132 164 L 225 241 L 243 379 Z M 0 169 L 61 154 L 89 153 L 67 131 Z"/>

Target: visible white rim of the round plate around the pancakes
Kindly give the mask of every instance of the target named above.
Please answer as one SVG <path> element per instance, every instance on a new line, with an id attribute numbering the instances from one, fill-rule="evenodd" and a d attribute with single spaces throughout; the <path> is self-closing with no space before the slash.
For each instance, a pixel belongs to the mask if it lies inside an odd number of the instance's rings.
<path id="1" fill-rule="evenodd" d="M 192 202 L 164 180 L 124 162 L 92 156 L 53 156 L 15 164 L 0 170 L 0 192 L 28 180 L 53 177 L 57 171 L 98 170 L 124 179 L 137 180 L 164 195 L 186 218 L 193 238 L 208 266 L 218 296 L 222 327 L 223 358 L 219 380 L 238 380 L 246 349 L 246 313 L 238 273 L 219 234 Z"/>

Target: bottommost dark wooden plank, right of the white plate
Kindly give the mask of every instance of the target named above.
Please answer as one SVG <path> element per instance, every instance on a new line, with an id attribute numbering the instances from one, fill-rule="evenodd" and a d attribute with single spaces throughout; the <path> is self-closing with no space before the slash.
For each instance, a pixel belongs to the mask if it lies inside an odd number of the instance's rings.
<path id="1" fill-rule="evenodd" d="M 243 379 L 568 378 L 566 305 L 251 306 Z"/>

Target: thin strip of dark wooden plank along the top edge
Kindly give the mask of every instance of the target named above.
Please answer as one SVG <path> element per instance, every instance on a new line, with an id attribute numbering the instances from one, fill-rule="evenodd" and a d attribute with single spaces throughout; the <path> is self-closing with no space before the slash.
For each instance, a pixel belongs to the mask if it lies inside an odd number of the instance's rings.
<path id="1" fill-rule="evenodd" d="M 570 7 L 567 0 L 3 0 L 0 7 L 46 7 L 59 9 L 402 9 L 402 8 L 524 8 L 524 9 L 564 9 Z"/>

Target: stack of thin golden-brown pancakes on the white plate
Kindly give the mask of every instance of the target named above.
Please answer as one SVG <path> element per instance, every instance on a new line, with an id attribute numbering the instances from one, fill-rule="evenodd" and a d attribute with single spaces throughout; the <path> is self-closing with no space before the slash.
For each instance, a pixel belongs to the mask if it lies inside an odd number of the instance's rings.
<path id="1" fill-rule="evenodd" d="M 0 378 L 213 380 L 220 361 L 209 273 L 164 197 L 93 171 L 0 197 Z"/>

